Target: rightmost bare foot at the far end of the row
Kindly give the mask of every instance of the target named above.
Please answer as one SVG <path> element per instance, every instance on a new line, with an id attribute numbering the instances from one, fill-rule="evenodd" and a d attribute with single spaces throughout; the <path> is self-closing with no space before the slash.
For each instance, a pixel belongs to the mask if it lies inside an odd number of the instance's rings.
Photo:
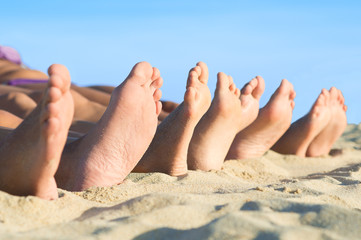
<path id="1" fill-rule="evenodd" d="M 333 143 L 342 135 L 347 126 L 345 99 L 340 90 L 330 89 L 329 108 L 331 120 L 327 126 L 311 142 L 307 149 L 307 157 L 327 155 Z"/>

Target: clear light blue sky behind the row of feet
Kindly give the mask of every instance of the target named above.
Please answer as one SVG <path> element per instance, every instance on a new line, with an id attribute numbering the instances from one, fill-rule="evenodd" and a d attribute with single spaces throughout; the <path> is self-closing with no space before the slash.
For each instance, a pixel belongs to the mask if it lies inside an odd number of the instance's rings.
<path id="1" fill-rule="evenodd" d="M 182 101 L 197 61 L 237 86 L 261 75 L 263 106 L 282 78 L 297 92 L 293 120 L 322 88 L 342 90 L 349 123 L 361 122 L 361 1 L 1 1 L 0 44 L 46 71 L 66 65 L 78 85 L 118 85 L 148 61 L 163 99 Z"/>

